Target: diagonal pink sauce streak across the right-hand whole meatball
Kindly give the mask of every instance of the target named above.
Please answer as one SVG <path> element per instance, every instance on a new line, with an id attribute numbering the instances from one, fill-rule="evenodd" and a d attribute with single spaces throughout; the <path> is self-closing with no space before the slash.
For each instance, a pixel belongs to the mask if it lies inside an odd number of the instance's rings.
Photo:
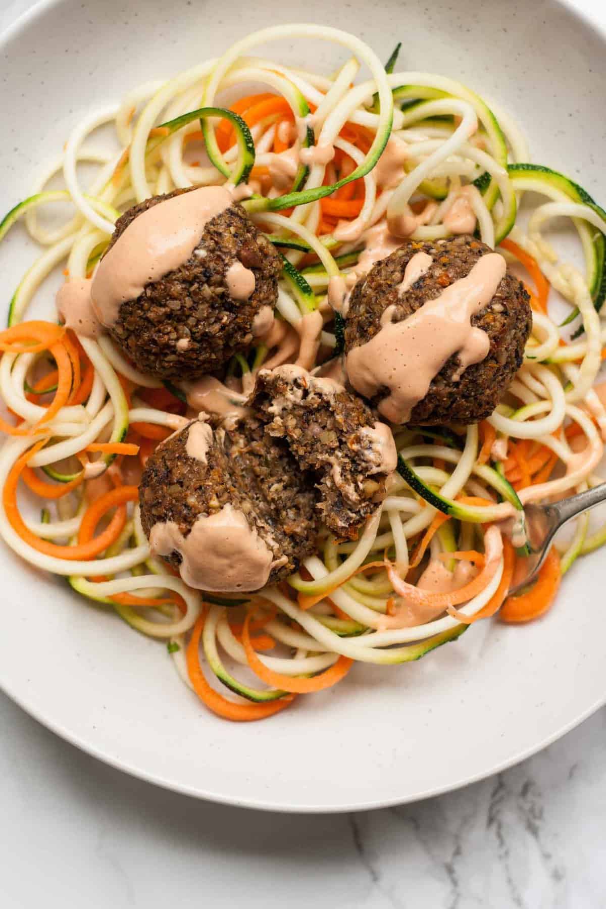
<path id="1" fill-rule="evenodd" d="M 461 372 L 482 361 L 490 349 L 489 338 L 472 326 L 471 318 L 490 303 L 505 268 L 502 255 L 482 255 L 469 275 L 435 300 L 402 322 L 383 325 L 370 341 L 354 347 L 346 370 L 355 390 L 373 397 L 387 388 L 389 395 L 379 411 L 392 423 L 402 424 L 450 356 L 459 356 Z"/>

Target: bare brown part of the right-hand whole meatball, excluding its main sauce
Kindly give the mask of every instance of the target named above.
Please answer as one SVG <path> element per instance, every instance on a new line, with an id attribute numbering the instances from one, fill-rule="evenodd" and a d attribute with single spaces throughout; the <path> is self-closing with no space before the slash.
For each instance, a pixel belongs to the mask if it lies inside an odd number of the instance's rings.
<path id="1" fill-rule="evenodd" d="M 354 286 L 347 313 L 346 364 L 354 387 L 361 390 L 360 382 L 354 381 L 350 369 L 349 355 L 353 350 L 371 341 L 386 323 L 401 323 L 422 305 L 441 296 L 446 288 L 469 275 L 482 256 L 489 254 L 494 255 L 489 246 L 467 235 L 434 243 L 410 240 L 373 265 Z M 414 256 L 417 256 L 417 262 L 422 262 L 422 267 L 412 268 L 406 274 Z M 458 353 L 450 355 L 433 376 L 426 394 L 412 406 L 408 419 L 393 422 L 412 425 L 477 423 L 491 415 L 499 404 L 513 375 L 522 365 L 524 345 L 531 333 L 529 295 L 522 282 L 509 271 L 505 272 L 501 265 L 503 276 L 492 299 L 471 319 L 473 328 L 488 336 L 490 344 L 484 348 L 487 354 L 482 356 L 482 352 L 479 362 L 472 359 L 472 365 L 462 364 Z M 444 331 L 448 331 L 447 325 Z M 476 333 L 475 340 L 482 347 L 480 333 Z M 421 362 L 429 353 L 419 346 L 415 356 Z M 360 353 L 357 357 L 360 360 Z M 371 396 L 372 404 L 378 406 L 380 413 L 383 412 L 382 401 L 388 394 L 389 388 L 384 386 Z"/>

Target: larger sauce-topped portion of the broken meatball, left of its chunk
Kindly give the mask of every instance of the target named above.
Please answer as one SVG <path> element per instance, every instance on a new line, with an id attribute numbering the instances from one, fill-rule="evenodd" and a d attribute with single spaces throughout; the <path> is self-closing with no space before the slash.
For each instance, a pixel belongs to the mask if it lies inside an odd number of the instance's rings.
<path id="1" fill-rule="evenodd" d="M 286 445 L 253 419 L 194 420 L 159 445 L 139 487 L 152 552 L 200 590 L 275 584 L 314 551 L 313 484 Z"/>

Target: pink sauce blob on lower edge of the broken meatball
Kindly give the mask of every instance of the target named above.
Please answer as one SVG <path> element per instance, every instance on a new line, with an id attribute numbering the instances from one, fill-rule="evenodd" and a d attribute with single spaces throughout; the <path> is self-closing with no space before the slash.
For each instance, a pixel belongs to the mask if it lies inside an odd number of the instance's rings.
<path id="1" fill-rule="evenodd" d="M 179 574 L 196 590 L 259 590 L 272 570 L 272 551 L 231 504 L 201 515 L 187 536 L 174 521 L 154 524 L 149 542 L 154 555 L 181 554 Z"/>

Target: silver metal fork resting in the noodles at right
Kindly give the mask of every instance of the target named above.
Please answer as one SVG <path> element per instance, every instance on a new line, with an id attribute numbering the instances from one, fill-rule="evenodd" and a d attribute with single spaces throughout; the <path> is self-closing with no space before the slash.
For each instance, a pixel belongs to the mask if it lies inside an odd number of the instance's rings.
<path id="1" fill-rule="evenodd" d="M 569 499 L 562 499 L 561 502 L 526 505 L 524 507 L 526 536 L 531 554 L 525 560 L 526 574 L 518 584 L 510 587 L 509 593 L 517 594 L 522 587 L 531 583 L 545 561 L 553 537 L 564 524 L 603 502 L 606 502 L 606 483 L 594 486 L 593 489 L 586 489 L 583 493 L 571 495 Z"/>

